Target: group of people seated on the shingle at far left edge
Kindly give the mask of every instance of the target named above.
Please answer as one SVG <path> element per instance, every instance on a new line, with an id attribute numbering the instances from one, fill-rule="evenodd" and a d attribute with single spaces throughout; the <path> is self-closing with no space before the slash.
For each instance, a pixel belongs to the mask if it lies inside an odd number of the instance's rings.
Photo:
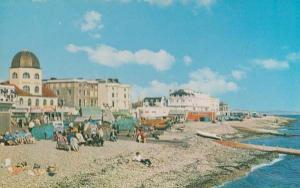
<path id="1" fill-rule="evenodd" d="M 4 145 L 14 146 L 19 144 L 34 144 L 35 139 L 29 130 L 6 132 L 4 135 L 0 135 L 0 143 Z"/>

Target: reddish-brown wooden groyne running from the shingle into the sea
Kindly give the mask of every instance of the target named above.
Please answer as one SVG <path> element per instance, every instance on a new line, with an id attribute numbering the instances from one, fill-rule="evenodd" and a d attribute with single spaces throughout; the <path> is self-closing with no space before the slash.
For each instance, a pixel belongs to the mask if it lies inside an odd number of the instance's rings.
<path id="1" fill-rule="evenodd" d="M 288 155 L 297 155 L 300 156 L 300 150 L 297 149 L 290 149 L 290 148 L 282 148 L 282 147 L 272 147 L 272 146 L 260 146 L 254 144 L 242 144 L 239 142 L 232 142 L 232 141 L 216 141 L 217 143 L 232 147 L 232 148 L 242 148 L 242 149 L 253 149 L 259 151 L 266 151 L 266 152 L 274 152 L 274 153 L 282 153 Z"/>

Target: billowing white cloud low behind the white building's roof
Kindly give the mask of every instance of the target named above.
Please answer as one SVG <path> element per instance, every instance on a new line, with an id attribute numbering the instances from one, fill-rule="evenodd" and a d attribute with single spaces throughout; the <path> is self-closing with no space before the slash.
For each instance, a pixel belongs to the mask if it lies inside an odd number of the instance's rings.
<path id="1" fill-rule="evenodd" d="M 134 86 L 133 98 L 146 96 L 166 96 L 170 90 L 174 89 L 193 89 L 209 93 L 212 95 L 223 94 L 227 92 L 233 92 L 238 89 L 238 85 L 229 81 L 226 76 L 212 71 L 210 68 L 198 69 L 191 72 L 189 80 L 186 83 L 164 83 L 157 80 L 153 80 L 146 87 Z"/>

